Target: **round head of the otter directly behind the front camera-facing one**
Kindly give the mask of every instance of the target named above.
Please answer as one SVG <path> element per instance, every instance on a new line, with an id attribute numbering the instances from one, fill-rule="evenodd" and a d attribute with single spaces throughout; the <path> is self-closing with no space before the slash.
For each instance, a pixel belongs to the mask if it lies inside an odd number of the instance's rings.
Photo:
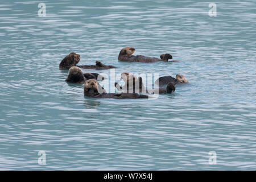
<path id="1" fill-rule="evenodd" d="M 83 84 L 85 82 L 84 74 L 79 67 L 71 67 L 68 71 L 68 78 L 65 80 L 67 82 Z"/>

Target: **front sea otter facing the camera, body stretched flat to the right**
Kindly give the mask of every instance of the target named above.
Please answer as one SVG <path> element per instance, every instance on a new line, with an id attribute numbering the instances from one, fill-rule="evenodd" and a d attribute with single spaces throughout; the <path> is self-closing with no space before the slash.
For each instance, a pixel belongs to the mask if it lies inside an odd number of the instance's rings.
<path id="1" fill-rule="evenodd" d="M 105 90 L 102 92 L 102 86 L 98 84 L 95 79 L 85 81 L 84 84 L 84 96 L 94 98 L 148 98 L 147 95 L 137 93 L 106 93 Z M 100 90 L 100 92 L 99 92 Z"/>

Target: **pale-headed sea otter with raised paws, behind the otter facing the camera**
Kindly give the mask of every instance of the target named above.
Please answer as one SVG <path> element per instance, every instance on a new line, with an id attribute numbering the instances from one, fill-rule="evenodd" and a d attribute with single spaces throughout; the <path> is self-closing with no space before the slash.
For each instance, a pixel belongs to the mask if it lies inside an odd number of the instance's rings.
<path id="1" fill-rule="evenodd" d="M 121 78 L 125 81 L 125 85 L 122 87 L 115 82 L 115 88 L 122 93 L 159 93 L 159 94 L 170 94 L 175 92 L 175 84 L 168 83 L 166 87 L 147 89 L 141 77 L 136 77 L 133 73 L 122 73 Z"/>

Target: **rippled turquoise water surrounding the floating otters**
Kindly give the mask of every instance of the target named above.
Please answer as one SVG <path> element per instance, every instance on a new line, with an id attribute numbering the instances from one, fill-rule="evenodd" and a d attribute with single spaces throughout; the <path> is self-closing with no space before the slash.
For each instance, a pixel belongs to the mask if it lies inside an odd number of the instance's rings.
<path id="1" fill-rule="evenodd" d="M 208 1 L 44 1 L 45 17 L 38 3 L 0 5 L 0 169 L 256 169 L 255 1 L 214 1 L 212 17 Z M 123 63 L 125 46 L 181 62 Z M 189 84 L 156 100 L 86 98 L 59 70 L 69 52 Z"/>

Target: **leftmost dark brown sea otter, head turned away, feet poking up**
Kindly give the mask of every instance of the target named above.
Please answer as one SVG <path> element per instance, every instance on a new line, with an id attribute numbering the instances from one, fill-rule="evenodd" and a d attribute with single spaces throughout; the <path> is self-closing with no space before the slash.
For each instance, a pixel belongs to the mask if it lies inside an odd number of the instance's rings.
<path id="1" fill-rule="evenodd" d="M 105 65 L 101 63 L 100 61 L 96 61 L 96 65 L 77 65 L 80 61 L 80 55 L 71 52 L 68 56 L 64 57 L 64 59 L 60 62 L 60 69 L 69 69 L 73 66 L 77 66 L 79 68 L 83 69 L 111 69 L 111 68 L 117 68 L 112 65 Z"/>

